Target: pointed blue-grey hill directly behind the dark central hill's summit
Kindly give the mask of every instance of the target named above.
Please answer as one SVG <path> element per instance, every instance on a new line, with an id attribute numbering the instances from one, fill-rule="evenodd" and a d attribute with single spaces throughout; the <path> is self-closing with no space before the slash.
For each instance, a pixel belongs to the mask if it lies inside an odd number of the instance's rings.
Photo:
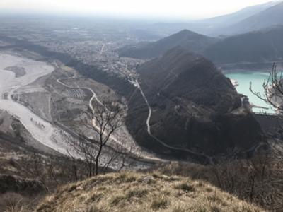
<path id="1" fill-rule="evenodd" d="M 192 52 L 202 52 L 204 48 L 216 42 L 216 38 L 200 35 L 189 30 L 165 37 L 156 42 L 139 43 L 120 49 L 120 56 L 148 59 L 158 57 L 173 47 L 183 47 Z"/>

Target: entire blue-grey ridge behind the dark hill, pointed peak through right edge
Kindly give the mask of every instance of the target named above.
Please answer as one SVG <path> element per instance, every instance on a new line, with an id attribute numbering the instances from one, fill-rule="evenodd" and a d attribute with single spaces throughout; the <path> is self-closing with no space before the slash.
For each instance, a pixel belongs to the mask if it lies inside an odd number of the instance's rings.
<path id="1" fill-rule="evenodd" d="M 265 63 L 283 60 L 283 25 L 261 31 L 216 39 L 182 30 L 169 37 L 120 49 L 120 56 L 150 59 L 182 47 L 211 59 L 216 64 Z"/>

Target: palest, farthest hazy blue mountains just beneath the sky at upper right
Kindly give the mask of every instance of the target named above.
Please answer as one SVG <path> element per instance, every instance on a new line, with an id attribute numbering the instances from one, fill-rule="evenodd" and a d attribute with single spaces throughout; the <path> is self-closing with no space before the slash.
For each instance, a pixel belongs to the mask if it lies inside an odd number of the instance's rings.
<path id="1" fill-rule="evenodd" d="M 155 23 L 151 31 L 170 35 L 187 29 L 208 36 L 236 35 L 252 30 L 262 30 L 271 25 L 283 24 L 283 3 L 270 1 L 243 8 L 235 13 L 187 23 Z"/>

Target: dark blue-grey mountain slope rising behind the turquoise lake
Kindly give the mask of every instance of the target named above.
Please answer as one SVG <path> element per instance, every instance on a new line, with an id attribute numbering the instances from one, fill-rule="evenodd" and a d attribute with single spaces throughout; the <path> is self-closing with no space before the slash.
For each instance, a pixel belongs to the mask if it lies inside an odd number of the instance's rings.
<path id="1" fill-rule="evenodd" d="M 228 37 L 208 47 L 204 54 L 222 64 L 279 61 L 283 59 L 282 37 L 283 26 L 277 26 Z"/>

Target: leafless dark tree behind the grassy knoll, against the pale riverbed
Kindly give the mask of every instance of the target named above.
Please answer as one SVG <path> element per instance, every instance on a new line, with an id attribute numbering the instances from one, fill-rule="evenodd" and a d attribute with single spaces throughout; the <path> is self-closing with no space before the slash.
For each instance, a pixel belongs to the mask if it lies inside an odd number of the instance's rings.
<path id="1" fill-rule="evenodd" d="M 109 107 L 109 109 L 108 109 Z M 125 141 L 118 141 L 114 134 L 123 124 L 124 114 L 119 104 L 110 105 L 96 102 L 92 116 L 81 119 L 88 131 L 93 131 L 91 138 L 80 135 L 79 139 L 68 141 L 69 155 L 76 155 L 86 163 L 88 177 L 106 172 L 115 163 L 117 170 L 125 166 L 125 155 L 132 153 L 132 148 Z M 117 165 L 117 161 L 120 165 Z"/>

